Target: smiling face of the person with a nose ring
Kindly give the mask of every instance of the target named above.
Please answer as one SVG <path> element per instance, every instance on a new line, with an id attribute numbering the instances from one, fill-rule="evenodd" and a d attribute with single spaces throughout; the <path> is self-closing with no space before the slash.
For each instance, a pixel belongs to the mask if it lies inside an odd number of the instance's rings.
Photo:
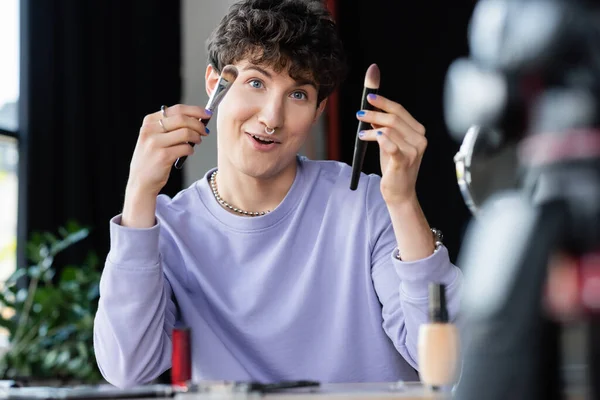
<path id="1" fill-rule="evenodd" d="M 219 105 L 217 142 L 220 166 L 254 178 L 271 179 L 295 169 L 296 154 L 322 113 L 317 88 L 296 81 L 284 70 L 242 61 L 234 64 L 238 77 Z M 206 71 L 210 93 L 219 76 Z M 265 127 L 275 129 L 272 135 Z"/>

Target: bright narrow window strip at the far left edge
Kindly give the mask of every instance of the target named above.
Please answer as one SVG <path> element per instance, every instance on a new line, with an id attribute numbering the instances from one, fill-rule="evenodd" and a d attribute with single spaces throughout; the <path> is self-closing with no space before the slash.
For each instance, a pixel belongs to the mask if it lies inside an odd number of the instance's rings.
<path id="1" fill-rule="evenodd" d="M 19 0 L 0 0 L 0 282 L 16 268 Z"/>

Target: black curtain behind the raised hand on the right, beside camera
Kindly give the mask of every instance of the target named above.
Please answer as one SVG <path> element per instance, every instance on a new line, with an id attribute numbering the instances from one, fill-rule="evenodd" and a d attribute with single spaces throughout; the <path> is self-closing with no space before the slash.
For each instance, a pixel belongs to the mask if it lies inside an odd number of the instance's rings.
<path id="1" fill-rule="evenodd" d="M 340 89 L 342 161 L 352 163 L 356 112 L 368 66 L 381 69 L 379 93 L 402 104 L 427 129 L 417 194 L 431 226 L 444 233 L 456 260 L 470 219 L 456 182 L 453 141 L 443 116 L 446 72 L 453 60 L 468 55 L 467 26 L 474 1 L 392 2 L 338 5 L 338 24 L 349 53 L 350 72 Z M 379 150 L 369 144 L 363 171 L 381 174 Z"/>

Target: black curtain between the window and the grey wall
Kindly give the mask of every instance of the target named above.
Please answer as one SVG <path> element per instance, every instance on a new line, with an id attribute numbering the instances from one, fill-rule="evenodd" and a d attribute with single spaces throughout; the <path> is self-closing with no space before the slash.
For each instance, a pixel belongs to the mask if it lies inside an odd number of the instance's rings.
<path id="1" fill-rule="evenodd" d="M 31 232 L 55 232 L 71 219 L 92 228 L 85 252 L 102 258 L 142 119 L 181 96 L 180 2 L 22 0 L 21 7 L 19 263 Z M 173 170 L 163 192 L 181 187 Z"/>

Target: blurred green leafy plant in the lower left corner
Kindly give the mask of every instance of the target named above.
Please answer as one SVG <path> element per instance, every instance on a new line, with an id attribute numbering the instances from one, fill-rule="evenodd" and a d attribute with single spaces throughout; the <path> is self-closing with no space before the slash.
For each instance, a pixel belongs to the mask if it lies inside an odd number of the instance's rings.
<path id="1" fill-rule="evenodd" d="M 79 265 L 61 268 L 55 256 L 85 239 L 87 228 L 69 223 L 52 233 L 33 234 L 27 245 L 32 264 L 18 268 L 0 287 L 0 326 L 10 347 L 0 359 L 0 376 L 100 381 L 93 351 L 98 307 L 98 258 L 89 253 Z M 25 281 L 25 285 L 23 282 Z"/>

